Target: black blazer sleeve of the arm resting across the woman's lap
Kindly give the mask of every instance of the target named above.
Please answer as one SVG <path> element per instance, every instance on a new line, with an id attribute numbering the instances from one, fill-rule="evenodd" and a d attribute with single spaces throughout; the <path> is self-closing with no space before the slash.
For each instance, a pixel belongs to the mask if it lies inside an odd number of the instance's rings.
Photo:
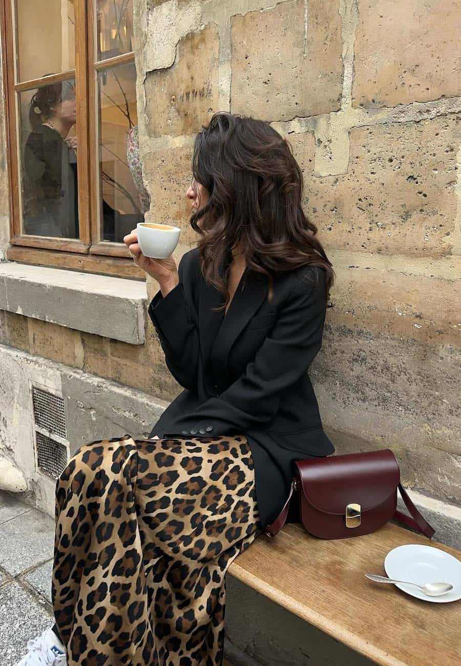
<path id="1" fill-rule="evenodd" d="M 200 430 L 209 436 L 238 434 L 272 420 L 284 390 L 306 372 L 322 345 L 326 284 L 324 271 L 318 269 L 318 274 L 310 282 L 295 276 L 274 327 L 244 374 L 219 397 L 175 420 L 164 436 Z"/>

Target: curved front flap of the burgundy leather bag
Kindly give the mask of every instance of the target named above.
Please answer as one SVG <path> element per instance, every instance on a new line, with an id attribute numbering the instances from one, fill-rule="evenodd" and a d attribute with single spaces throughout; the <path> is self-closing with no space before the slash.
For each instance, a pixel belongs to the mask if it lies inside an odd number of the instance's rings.
<path id="1" fill-rule="evenodd" d="M 350 503 L 360 504 L 362 511 L 379 506 L 396 493 L 400 480 L 390 449 L 296 460 L 295 464 L 304 498 L 319 511 L 336 515 L 344 515 Z"/>

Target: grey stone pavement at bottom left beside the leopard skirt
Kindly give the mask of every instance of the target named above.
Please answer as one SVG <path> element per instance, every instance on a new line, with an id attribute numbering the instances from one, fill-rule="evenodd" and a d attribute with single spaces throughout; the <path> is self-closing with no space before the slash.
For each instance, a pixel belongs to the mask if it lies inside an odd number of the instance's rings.
<path id="1" fill-rule="evenodd" d="M 15 666 L 27 641 L 53 626 L 55 521 L 0 491 L 0 664 Z"/>

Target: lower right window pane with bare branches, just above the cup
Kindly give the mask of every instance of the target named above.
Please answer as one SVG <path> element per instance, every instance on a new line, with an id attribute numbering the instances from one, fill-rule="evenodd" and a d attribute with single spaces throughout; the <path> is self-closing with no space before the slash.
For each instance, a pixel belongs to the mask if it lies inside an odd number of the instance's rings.
<path id="1" fill-rule="evenodd" d="M 149 209 L 139 161 L 134 63 L 98 74 L 101 238 L 123 242 Z"/>

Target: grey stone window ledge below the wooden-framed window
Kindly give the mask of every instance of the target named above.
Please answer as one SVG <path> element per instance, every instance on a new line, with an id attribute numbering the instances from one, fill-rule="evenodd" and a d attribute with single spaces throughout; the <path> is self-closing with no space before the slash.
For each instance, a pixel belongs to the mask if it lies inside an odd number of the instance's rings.
<path id="1" fill-rule="evenodd" d="M 0 262 L 0 310 L 131 344 L 145 341 L 146 283 Z"/>

